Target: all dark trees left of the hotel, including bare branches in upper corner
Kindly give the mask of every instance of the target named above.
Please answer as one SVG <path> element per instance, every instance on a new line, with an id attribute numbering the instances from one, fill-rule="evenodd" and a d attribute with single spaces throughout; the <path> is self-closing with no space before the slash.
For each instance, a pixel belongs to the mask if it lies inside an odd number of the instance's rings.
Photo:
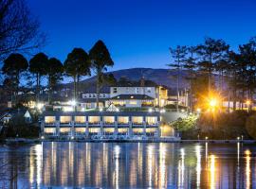
<path id="1" fill-rule="evenodd" d="M 32 15 L 25 0 L 0 1 L 0 70 L 2 86 L 0 100 L 6 102 L 11 96 L 14 105 L 19 102 L 21 90 L 35 91 L 36 101 L 40 101 L 42 78 L 47 78 L 48 103 L 56 84 L 64 76 L 74 81 L 74 100 L 81 89 L 81 77 L 90 76 L 91 71 L 97 76 L 97 104 L 103 81 L 113 81 L 112 75 L 104 74 L 114 62 L 105 44 L 100 40 L 89 52 L 74 48 L 64 62 L 48 58 L 38 49 L 46 44 L 46 34 L 40 29 L 40 22 Z M 27 60 L 27 57 L 31 57 Z M 36 86 L 34 89 L 34 85 Z M 26 93 L 26 92 L 25 92 Z M 7 97 L 6 97 L 7 96 Z"/>

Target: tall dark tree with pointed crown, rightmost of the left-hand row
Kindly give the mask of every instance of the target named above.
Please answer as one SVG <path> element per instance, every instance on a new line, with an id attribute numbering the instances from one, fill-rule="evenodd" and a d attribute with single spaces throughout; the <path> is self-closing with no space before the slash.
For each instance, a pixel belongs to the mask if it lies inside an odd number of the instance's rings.
<path id="1" fill-rule="evenodd" d="M 97 109 L 99 109 L 99 95 L 102 84 L 102 76 L 105 71 L 107 71 L 108 66 L 113 66 L 114 61 L 111 59 L 110 53 L 106 45 L 100 40 L 94 44 L 94 46 L 89 51 L 89 56 L 92 61 L 92 66 L 96 72 L 97 76 Z"/>

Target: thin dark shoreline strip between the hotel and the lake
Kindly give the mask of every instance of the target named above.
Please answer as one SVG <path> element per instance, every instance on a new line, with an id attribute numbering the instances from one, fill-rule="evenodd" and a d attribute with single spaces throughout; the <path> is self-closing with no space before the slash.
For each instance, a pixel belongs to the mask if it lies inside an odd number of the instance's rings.
<path id="1" fill-rule="evenodd" d="M 115 139 L 82 139 L 82 140 L 47 140 L 47 139 L 4 139 L 2 144 L 39 144 L 42 142 L 76 142 L 76 143 L 176 143 L 176 144 L 256 144 L 256 140 L 177 140 L 177 139 L 134 139 L 134 140 L 115 140 Z"/>

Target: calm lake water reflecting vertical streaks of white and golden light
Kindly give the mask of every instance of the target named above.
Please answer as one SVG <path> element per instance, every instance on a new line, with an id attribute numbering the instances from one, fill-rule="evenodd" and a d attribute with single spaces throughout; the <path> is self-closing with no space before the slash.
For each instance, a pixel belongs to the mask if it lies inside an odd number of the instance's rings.
<path id="1" fill-rule="evenodd" d="M 256 188 L 256 146 L 0 146 L 0 188 Z"/>

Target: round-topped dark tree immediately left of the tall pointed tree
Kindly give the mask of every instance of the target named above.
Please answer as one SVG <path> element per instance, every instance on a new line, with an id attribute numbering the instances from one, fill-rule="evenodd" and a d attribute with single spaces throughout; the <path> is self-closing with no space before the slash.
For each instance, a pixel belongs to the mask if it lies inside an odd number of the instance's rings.
<path id="1" fill-rule="evenodd" d="M 77 90 L 80 77 L 90 76 L 91 61 L 88 54 L 82 48 L 74 48 L 67 55 L 64 61 L 64 71 L 67 76 L 73 77 L 74 81 L 74 100 L 77 99 Z"/>

